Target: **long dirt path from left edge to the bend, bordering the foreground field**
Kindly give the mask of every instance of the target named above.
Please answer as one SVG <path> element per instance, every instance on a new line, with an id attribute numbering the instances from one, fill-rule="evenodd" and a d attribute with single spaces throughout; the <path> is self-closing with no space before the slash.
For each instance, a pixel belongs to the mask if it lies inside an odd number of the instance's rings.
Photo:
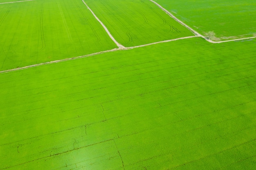
<path id="1" fill-rule="evenodd" d="M 159 44 L 159 43 L 164 43 L 164 42 L 171 42 L 171 41 L 177 41 L 177 40 L 183 40 L 183 39 L 195 38 L 195 37 L 200 37 L 200 36 L 182 37 L 182 38 L 176 38 L 176 39 L 172 39 L 172 40 L 164 40 L 164 41 L 159 41 L 159 42 L 153 42 L 153 43 L 150 43 L 150 44 L 144 44 L 144 45 L 139 45 L 139 46 L 131 46 L 131 47 L 118 48 L 118 49 L 111 49 L 111 50 L 106 50 L 106 51 L 99 51 L 99 52 L 96 52 L 96 53 L 81 55 L 81 56 L 78 56 L 78 57 L 66 58 L 66 59 L 62 59 L 62 60 L 54 60 L 54 61 L 51 61 L 51 62 L 43 62 L 43 63 L 40 63 L 40 64 L 33 64 L 33 65 L 29 65 L 29 66 L 24 66 L 24 67 L 13 68 L 13 69 L 9 69 L 9 70 L 0 71 L 0 73 L 18 71 L 18 70 L 23 70 L 23 69 L 26 69 L 26 68 L 31 68 L 31 67 L 36 67 L 36 66 L 41 66 L 41 65 L 46 65 L 46 64 L 65 62 L 65 61 L 68 61 L 68 60 L 75 60 L 75 59 L 79 59 L 79 58 L 86 58 L 86 57 L 90 57 L 90 56 L 93 56 L 93 55 L 108 53 L 108 52 L 112 52 L 112 51 L 130 50 L 130 49 L 135 49 L 135 48 L 139 48 L 139 47 L 143 47 L 143 46 L 150 46 L 150 45 L 153 45 L 153 44 Z"/>

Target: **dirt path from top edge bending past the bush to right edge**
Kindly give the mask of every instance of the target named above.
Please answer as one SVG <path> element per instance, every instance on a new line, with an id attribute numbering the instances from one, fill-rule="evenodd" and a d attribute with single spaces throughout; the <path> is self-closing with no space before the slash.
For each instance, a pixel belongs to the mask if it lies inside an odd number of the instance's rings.
<path id="1" fill-rule="evenodd" d="M 213 40 L 209 40 L 208 38 L 206 38 L 204 35 L 201 35 L 200 33 L 196 32 L 194 29 L 192 29 L 190 26 L 188 26 L 187 24 L 185 24 L 184 22 L 182 22 L 181 20 L 179 20 L 177 17 L 175 17 L 171 12 L 169 12 L 167 9 L 165 9 L 164 7 L 162 7 L 160 4 L 158 4 L 157 2 L 155 2 L 154 0 L 150 0 L 151 2 L 153 2 L 154 4 L 156 4 L 160 9 L 162 9 L 165 13 L 167 13 L 171 18 L 173 18 L 174 20 L 176 20 L 177 22 L 179 22 L 180 24 L 182 24 L 183 26 L 185 26 L 187 29 L 189 29 L 192 33 L 194 33 L 195 35 L 204 38 L 204 40 L 207 40 L 208 42 L 211 42 L 213 44 L 219 44 L 222 42 L 231 42 L 231 41 L 239 41 L 239 40 L 246 40 L 246 39 L 253 39 L 256 38 L 256 36 L 254 37 L 248 37 L 248 38 L 238 38 L 238 39 L 234 39 L 234 40 L 225 40 L 225 41 L 213 41 Z M 238 35 L 239 36 L 239 35 Z"/>

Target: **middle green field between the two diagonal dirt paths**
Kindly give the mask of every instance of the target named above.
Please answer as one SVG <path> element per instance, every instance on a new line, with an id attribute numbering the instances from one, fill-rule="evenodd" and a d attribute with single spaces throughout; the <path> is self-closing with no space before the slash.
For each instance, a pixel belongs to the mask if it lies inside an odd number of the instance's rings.
<path id="1" fill-rule="evenodd" d="M 137 46 L 193 35 L 149 0 L 85 2 L 114 38 L 124 46 Z"/>

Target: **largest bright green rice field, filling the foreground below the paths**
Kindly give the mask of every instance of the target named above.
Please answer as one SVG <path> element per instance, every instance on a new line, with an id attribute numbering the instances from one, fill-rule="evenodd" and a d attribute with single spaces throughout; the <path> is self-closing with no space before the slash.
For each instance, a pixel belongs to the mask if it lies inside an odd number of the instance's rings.
<path id="1" fill-rule="evenodd" d="M 191 38 L 1 73 L 0 169 L 254 170 L 255 53 Z"/>

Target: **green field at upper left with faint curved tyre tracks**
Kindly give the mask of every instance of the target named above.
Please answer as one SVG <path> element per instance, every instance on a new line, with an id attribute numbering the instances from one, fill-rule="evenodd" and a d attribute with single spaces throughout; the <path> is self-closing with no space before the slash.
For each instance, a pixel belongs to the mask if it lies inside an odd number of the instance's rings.
<path id="1" fill-rule="evenodd" d="M 116 48 L 81 0 L 0 4 L 0 70 Z"/>

